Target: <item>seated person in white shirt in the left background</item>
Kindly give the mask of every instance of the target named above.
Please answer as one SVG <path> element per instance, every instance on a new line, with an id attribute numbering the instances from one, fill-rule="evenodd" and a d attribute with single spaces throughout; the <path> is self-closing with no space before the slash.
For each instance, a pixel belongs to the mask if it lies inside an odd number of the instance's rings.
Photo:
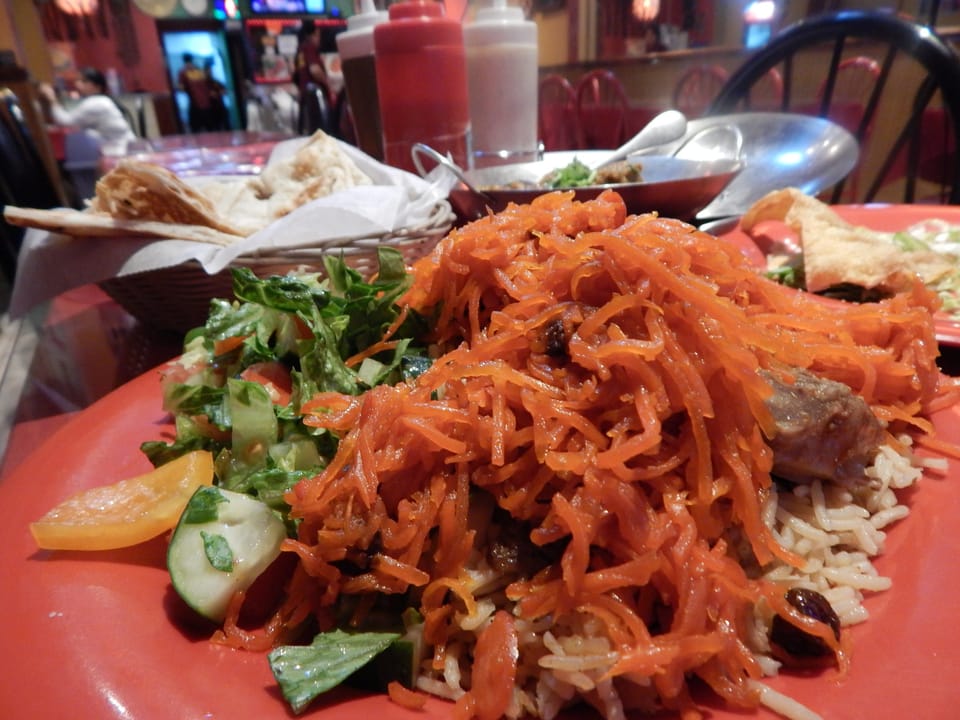
<path id="1" fill-rule="evenodd" d="M 41 100 L 49 103 L 53 122 L 93 135 L 106 153 L 123 153 L 127 143 L 137 136 L 123 107 L 107 90 L 104 74 L 96 68 L 83 68 L 74 88 L 80 99 L 70 108 L 60 104 L 51 85 L 44 83 L 38 88 Z"/>

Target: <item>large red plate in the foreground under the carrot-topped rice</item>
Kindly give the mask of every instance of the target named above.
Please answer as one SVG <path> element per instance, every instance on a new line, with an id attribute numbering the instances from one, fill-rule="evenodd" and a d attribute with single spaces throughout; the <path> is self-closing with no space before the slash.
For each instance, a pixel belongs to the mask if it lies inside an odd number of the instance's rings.
<path id="1" fill-rule="evenodd" d="M 160 407 L 157 375 L 148 373 L 75 416 L 0 480 L 0 717 L 290 717 L 262 655 L 211 645 L 209 629 L 184 629 L 162 540 L 96 554 L 34 546 L 28 523 L 67 495 L 149 468 L 138 448 L 168 429 Z M 936 424 L 960 440 L 960 409 L 941 413 Z M 892 529 L 876 563 L 894 587 L 868 598 L 872 619 L 853 630 L 849 676 L 781 676 L 771 685 L 831 719 L 956 716 L 958 481 L 960 472 L 952 470 L 947 478 L 925 478 L 910 493 L 912 514 Z M 385 696 L 346 692 L 307 713 L 330 720 L 449 714 L 442 701 L 411 713 Z M 717 710 L 710 717 L 754 716 Z"/>

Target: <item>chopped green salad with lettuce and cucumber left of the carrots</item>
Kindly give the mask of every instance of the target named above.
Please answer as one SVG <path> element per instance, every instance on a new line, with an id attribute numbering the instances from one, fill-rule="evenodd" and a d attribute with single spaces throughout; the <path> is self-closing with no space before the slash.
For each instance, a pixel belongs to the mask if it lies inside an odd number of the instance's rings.
<path id="1" fill-rule="evenodd" d="M 295 536 L 284 494 L 336 451 L 337 437 L 304 424 L 303 403 L 327 391 L 356 395 L 397 383 L 430 365 L 417 342 L 424 319 L 402 316 L 396 304 L 411 282 L 399 252 L 379 251 L 369 283 L 341 259 L 327 259 L 325 268 L 326 277 L 263 279 L 234 270 L 236 299 L 212 302 L 206 324 L 187 335 L 183 355 L 164 372 L 175 437 L 142 450 L 158 466 L 193 450 L 213 455 L 214 485 L 190 499 L 167 565 L 183 600 L 215 622 Z M 391 328 L 389 346 L 367 357 Z M 269 654 L 295 712 L 368 665 L 374 684 L 410 682 L 422 619 L 402 607 L 370 617 L 376 627 L 347 630 L 345 621 L 310 645 Z"/>

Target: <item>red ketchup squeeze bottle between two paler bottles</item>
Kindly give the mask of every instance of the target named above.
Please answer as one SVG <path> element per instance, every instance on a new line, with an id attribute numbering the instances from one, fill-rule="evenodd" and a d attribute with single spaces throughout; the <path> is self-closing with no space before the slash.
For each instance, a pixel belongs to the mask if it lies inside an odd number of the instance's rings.
<path id="1" fill-rule="evenodd" d="M 432 0 L 394 3 L 373 29 L 373 46 L 388 165 L 416 172 L 415 143 L 469 167 L 470 105 L 463 28 Z"/>

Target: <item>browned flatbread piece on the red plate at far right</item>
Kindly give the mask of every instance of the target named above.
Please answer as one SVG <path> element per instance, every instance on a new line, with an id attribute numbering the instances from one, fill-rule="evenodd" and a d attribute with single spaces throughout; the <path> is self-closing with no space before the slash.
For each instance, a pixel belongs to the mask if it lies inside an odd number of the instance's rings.
<path id="1" fill-rule="evenodd" d="M 893 234 L 852 225 L 829 205 L 796 188 L 768 193 L 744 214 L 740 227 L 751 232 L 759 223 L 786 224 L 803 246 L 806 288 L 820 292 L 851 284 L 896 293 L 919 278 L 933 285 L 952 273 L 953 258 L 927 250 L 907 252 Z"/>

